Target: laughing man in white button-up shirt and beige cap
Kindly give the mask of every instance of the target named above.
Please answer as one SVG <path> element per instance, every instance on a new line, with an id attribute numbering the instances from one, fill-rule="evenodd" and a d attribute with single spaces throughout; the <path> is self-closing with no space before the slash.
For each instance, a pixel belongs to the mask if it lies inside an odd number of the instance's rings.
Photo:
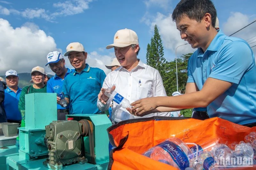
<path id="1" fill-rule="evenodd" d="M 130 29 L 122 29 L 116 32 L 114 43 L 106 48 L 115 49 L 115 55 L 121 67 L 110 72 L 104 80 L 102 89 L 98 95 L 97 106 L 101 111 L 109 108 L 110 100 L 104 92 L 108 87 L 133 101 L 154 96 L 166 96 L 162 78 L 158 70 L 142 63 L 137 55 L 140 51 L 137 34 Z M 143 117 L 170 116 L 170 112 L 152 113 Z M 112 122 L 113 124 L 127 120 L 141 118 L 130 114 L 125 108 L 113 103 Z"/>

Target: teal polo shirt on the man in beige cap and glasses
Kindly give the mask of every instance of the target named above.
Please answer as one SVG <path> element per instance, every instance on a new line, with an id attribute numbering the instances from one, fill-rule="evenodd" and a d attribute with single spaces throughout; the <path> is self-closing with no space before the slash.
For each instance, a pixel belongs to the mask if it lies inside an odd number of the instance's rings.
<path id="1" fill-rule="evenodd" d="M 86 64 L 84 70 L 70 73 L 64 79 L 62 91 L 69 98 L 69 114 L 95 114 L 101 111 L 97 99 L 106 74 Z"/>

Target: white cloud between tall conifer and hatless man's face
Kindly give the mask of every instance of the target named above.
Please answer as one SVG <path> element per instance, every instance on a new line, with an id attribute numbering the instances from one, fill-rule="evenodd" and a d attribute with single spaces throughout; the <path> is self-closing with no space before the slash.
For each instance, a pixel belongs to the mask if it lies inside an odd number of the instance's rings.
<path id="1" fill-rule="evenodd" d="M 154 26 L 157 25 L 161 39 L 163 41 L 164 48 L 172 50 L 175 53 L 175 49 L 182 44 L 187 43 L 180 38 L 180 33 L 177 30 L 175 22 L 172 21 L 172 14 L 165 16 L 162 13 L 157 13 L 156 18 L 150 25 L 150 31 L 154 31 Z M 191 46 L 184 45 L 177 48 L 177 55 L 187 54 L 193 52 L 196 49 L 192 49 Z"/>

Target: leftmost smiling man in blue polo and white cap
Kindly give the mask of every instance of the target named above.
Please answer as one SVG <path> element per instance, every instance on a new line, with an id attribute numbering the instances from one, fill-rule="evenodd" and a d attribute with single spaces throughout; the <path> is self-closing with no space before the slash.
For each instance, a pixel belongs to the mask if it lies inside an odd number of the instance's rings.
<path id="1" fill-rule="evenodd" d="M 19 76 L 17 71 L 8 70 L 5 73 L 7 88 L 4 90 L 4 110 L 7 121 L 10 123 L 21 123 L 21 114 L 18 109 L 21 88 L 18 87 Z"/>

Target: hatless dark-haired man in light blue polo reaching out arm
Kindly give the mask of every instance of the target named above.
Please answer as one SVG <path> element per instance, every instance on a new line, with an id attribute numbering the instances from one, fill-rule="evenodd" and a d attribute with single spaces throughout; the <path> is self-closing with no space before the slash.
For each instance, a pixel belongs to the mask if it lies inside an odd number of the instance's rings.
<path id="1" fill-rule="evenodd" d="M 144 115 L 154 109 L 207 107 L 210 118 L 256 126 L 256 66 L 252 49 L 246 41 L 216 31 L 216 16 L 211 0 L 179 2 L 172 19 L 181 39 L 198 48 L 188 62 L 186 93 L 133 102 L 134 114 Z"/>

